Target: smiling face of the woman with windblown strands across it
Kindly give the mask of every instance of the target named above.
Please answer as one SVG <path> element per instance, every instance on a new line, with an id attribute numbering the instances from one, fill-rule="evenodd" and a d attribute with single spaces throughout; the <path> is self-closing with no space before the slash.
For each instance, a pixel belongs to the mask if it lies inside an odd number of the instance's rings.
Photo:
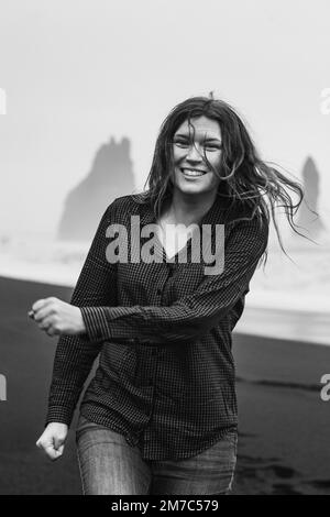
<path id="1" fill-rule="evenodd" d="M 218 176 L 208 166 L 207 160 L 220 172 L 221 131 L 218 122 L 207 117 L 186 120 L 173 138 L 174 187 L 184 194 L 202 194 L 217 190 Z M 189 134 L 190 131 L 190 134 Z"/>

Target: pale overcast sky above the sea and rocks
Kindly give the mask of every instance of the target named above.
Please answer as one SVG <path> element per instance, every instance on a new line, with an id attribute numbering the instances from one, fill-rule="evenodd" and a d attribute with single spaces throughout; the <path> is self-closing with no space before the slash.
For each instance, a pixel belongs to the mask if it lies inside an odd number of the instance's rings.
<path id="1" fill-rule="evenodd" d="M 142 188 L 163 119 L 211 90 L 265 160 L 299 179 L 314 156 L 330 228 L 329 19 L 328 0 L 1 0 L 0 235 L 54 233 L 112 135 Z"/>

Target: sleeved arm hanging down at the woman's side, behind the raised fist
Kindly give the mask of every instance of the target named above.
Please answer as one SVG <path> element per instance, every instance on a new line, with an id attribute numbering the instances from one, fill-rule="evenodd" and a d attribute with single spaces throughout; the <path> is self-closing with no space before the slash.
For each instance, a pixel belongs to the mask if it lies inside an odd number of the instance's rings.
<path id="1" fill-rule="evenodd" d="M 109 238 L 106 230 L 113 220 L 116 200 L 107 208 L 98 226 L 74 289 L 70 304 L 77 307 L 117 305 L 117 266 L 106 258 Z M 70 425 L 84 383 L 102 343 L 84 336 L 61 336 L 55 353 L 48 396 L 46 425 Z"/>

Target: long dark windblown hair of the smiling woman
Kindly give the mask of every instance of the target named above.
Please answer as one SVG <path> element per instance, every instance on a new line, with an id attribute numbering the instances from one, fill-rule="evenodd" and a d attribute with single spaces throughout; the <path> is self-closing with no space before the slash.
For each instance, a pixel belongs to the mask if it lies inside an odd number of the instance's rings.
<path id="1" fill-rule="evenodd" d="M 205 154 L 209 167 L 220 178 L 217 195 L 230 198 L 231 206 L 240 204 L 250 208 L 251 218 L 257 215 L 261 220 L 264 216 L 268 224 L 272 215 L 277 238 L 285 254 L 287 253 L 283 246 L 276 222 L 276 204 L 285 209 L 292 229 L 305 239 L 310 240 L 296 230 L 298 226 L 294 222 L 294 216 L 305 196 L 302 185 L 297 179 L 289 179 L 280 173 L 278 166 L 276 166 L 277 168 L 272 166 L 273 162 L 261 160 L 239 114 L 223 100 L 215 99 L 212 94 L 210 94 L 210 97 L 186 99 L 175 106 L 168 113 L 158 133 L 151 170 L 144 185 L 146 190 L 134 195 L 135 200 L 138 202 L 150 202 L 155 217 L 160 217 L 163 204 L 172 197 L 173 193 L 174 134 L 186 120 L 194 131 L 190 119 L 201 116 L 217 121 L 221 130 L 220 172 L 211 167 Z M 298 196 L 296 204 L 294 204 L 287 189 Z M 311 211 L 317 215 L 314 210 Z M 265 252 L 265 256 L 267 256 L 267 252 Z"/>

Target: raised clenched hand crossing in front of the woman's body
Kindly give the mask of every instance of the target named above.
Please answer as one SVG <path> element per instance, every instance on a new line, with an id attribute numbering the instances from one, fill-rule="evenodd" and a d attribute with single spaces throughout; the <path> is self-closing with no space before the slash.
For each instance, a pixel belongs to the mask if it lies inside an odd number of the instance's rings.
<path id="1" fill-rule="evenodd" d="M 48 336 L 76 336 L 86 332 L 79 307 L 62 301 L 54 296 L 35 301 L 29 316 Z"/>

